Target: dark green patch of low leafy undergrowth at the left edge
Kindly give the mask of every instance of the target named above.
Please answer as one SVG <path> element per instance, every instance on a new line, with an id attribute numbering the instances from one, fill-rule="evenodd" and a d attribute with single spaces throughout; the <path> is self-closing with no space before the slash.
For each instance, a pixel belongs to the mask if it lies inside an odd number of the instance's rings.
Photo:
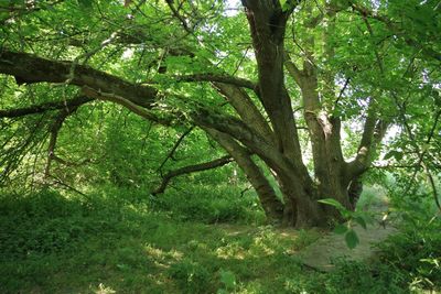
<path id="1" fill-rule="evenodd" d="M 89 236 L 117 230 L 122 214 L 118 203 L 99 195 L 68 198 L 51 189 L 0 195 L 0 259 L 74 251 Z"/>

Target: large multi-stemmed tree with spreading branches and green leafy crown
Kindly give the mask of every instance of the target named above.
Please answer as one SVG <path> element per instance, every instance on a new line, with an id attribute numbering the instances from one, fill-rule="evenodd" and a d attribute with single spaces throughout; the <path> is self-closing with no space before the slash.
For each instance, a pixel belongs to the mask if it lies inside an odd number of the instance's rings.
<path id="1" fill-rule="evenodd" d="M 243 0 L 233 17 L 226 3 L 207 0 L 10 4 L 0 73 L 73 96 L 12 104 L 0 117 L 58 111 L 47 168 L 63 120 L 95 100 L 165 127 L 195 126 L 226 151 L 223 164 L 230 156 L 244 171 L 269 218 L 324 227 L 337 214 L 318 200 L 353 208 L 349 195 L 397 123 L 402 95 L 418 92 L 424 78 L 435 89 L 438 74 L 429 70 L 440 62 L 439 7 L 413 2 L 401 12 L 405 4 L 388 1 Z M 351 123 L 361 135 L 345 156 L 342 126 Z"/>

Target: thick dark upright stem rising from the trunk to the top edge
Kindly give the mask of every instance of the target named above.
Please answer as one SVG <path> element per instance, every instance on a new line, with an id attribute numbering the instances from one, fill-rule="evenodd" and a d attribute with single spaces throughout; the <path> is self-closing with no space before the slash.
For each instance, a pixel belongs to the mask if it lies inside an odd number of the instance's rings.
<path id="1" fill-rule="evenodd" d="M 284 87 L 284 32 L 292 10 L 283 11 L 279 1 L 245 1 L 258 68 L 259 99 L 271 121 L 275 145 L 301 173 L 302 163 L 295 118 Z M 305 173 L 306 174 L 306 173 Z"/>

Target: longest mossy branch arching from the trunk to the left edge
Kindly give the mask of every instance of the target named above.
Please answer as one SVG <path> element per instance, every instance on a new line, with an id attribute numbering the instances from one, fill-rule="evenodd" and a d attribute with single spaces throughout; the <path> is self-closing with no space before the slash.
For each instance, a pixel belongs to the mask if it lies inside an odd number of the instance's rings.
<path id="1" fill-rule="evenodd" d="M 169 109 L 159 113 L 152 109 L 153 102 L 158 97 L 155 88 L 131 84 L 119 77 L 83 65 L 74 66 L 75 70 L 72 75 L 72 67 L 73 62 L 51 61 L 28 53 L 4 50 L 0 52 L 0 73 L 14 76 L 19 84 L 45 81 L 65 85 L 65 81 L 69 80 L 72 85 L 82 87 L 82 95 L 122 105 L 133 113 L 150 121 L 163 126 L 174 126 L 182 124 L 183 120 L 190 120 L 198 127 L 207 127 L 228 133 L 263 157 L 272 167 L 282 166 L 281 168 L 287 172 L 292 170 L 290 159 L 275 150 L 273 143 L 268 142 L 265 137 L 256 132 L 247 122 L 198 104 L 187 113 L 178 109 Z M 286 102 L 288 102 L 289 98 L 286 91 L 283 94 Z M 288 105 L 289 107 L 290 105 Z M 292 112 L 290 112 L 290 116 L 292 116 Z M 277 118 L 277 116 L 273 118 Z M 282 118 L 279 119 L 282 120 Z M 290 130 L 290 128 L 283 127 L 283 123 L 279 124 L 279 128 L 284 131 Z M 297 130 L 294 131 L 297 132 Z M 298 154 L 300 156 L 301 153 L 298 152 Z"/>

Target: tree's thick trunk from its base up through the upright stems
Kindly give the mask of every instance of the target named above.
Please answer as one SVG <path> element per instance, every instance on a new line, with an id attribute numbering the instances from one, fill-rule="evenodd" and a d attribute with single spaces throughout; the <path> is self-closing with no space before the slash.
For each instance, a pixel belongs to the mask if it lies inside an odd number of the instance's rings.
<path id="1" fill-rule="evenodd" d="M 310 129 L 318 185 L 313 183 L 302 162 L 295 119 L 291 99 L 284 88 L 284 30 L 290 11 L 283 11 L 278 1 L 243 1 L 250 25 L 258 65 L 260 101 L 263 105 L 276 134 L 275 148 L 283 156 L 283 164 L 267 160 L 277 174 L 284 196 L 284 222 L 295 227 L 326 226 L 335 210 L 324 208 L 320 198 L 336 198 L 348 206 L 347 194 L 342 188 L 342 156 L 334 164 L 335 140 L 326 131 L 332 127 L 320 117 L 318 110 L 316 79 L 313 75 L 303 78 L 302 90 L 305 119 Z M 309 69 L 309 68 L 308 68 Z M 310 70 L 311 72 L 311 70 Z M 315 83 L 315 84 L 314 84 Z M 340 131 L 340 129 L 338 129 Z M 265 159 L 263 159 L 265 160 Z M 346 196 L 346 197 L 345 197 Z"/>

